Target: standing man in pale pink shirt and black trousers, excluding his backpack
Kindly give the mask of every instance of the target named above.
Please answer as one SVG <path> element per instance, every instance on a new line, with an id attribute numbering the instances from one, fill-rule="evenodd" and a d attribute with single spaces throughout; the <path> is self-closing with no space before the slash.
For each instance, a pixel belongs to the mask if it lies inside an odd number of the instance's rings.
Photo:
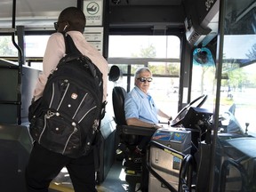
<path id="1" fill-rule="evenodd" d="M 86 42 L 83 33 L 85 27 L 84 12 L 76 7 L 68 7 L 60 12 L 54 26 L 57 33 L 50 36 L 44 52 L 43 73 L 39 76 L 34 99 L 40 98 L 44 85 L 52 69 L 56 68 L 65 55 L 65 42 L 61 32 L 72 37 L 77 49 L 89 57 L 103 74 L 103 100 L 107 98 L 108 62 L 100 52 Z M 43 148 L 34 143 L 26 170 L 28 192 L 47 192 L 51 181 L 66 166 L 76 192 L 95 192 L 95 169 L 93 152 L 87 156 L 70 158 Z"/>

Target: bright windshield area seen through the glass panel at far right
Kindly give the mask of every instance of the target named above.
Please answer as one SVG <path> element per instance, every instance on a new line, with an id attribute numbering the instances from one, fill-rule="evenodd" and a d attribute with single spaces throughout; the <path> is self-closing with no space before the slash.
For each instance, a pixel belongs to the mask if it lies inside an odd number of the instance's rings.
<path id="1" fill-rule="evenodd" d="M 256 136 L 256 35 L 224 36 L 220 112 L 229 111 L 241 127 L 230 127 L 227 132 L 248 132 Z M 236 49 L 232 49 L 236 47 Z"/>

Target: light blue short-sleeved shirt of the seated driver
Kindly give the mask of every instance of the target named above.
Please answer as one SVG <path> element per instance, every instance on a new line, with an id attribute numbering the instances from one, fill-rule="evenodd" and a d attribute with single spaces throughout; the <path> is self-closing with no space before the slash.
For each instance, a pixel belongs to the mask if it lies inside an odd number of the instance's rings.
<path id="1" fill-rule="evenodd" d="M 139 118 L 141 121 L 158 124 L 157 111 L 154 100 L 150 95 L 135 86 L 128 92 L 124 101 L 125 119 Z"/>

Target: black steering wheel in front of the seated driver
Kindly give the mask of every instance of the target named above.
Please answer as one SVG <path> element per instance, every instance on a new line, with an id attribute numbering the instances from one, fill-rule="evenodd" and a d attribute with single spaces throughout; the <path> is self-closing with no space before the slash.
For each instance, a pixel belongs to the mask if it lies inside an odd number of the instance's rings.
<path id="1" fill-rule="evenodd" d="M 172 120 L 171 126 L 177 126 L 178 124 L 181 124 L 182 120 L 188 113 L 188 109 L 190 107 L 200 108 L 204 104 L 206 99 L 207 95 L 202 95 L 196 98 L 196 100 L 192 100 L 190 103 L 188 103 L 188 105 L 182 108 L 178 115 Z"/>

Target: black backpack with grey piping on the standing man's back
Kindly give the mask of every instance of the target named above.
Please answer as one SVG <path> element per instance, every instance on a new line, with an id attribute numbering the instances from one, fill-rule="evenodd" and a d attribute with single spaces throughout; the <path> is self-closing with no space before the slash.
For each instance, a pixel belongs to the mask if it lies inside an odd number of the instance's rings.
<path id="1" fill-rule="evenodd" d="M 99 68 L 63 35 L 67 55 L 48 77 L 43 96 L 29 107 L 29 132 L 44 148 L 78 157 L 92 149 L 106 103 Z"/>

